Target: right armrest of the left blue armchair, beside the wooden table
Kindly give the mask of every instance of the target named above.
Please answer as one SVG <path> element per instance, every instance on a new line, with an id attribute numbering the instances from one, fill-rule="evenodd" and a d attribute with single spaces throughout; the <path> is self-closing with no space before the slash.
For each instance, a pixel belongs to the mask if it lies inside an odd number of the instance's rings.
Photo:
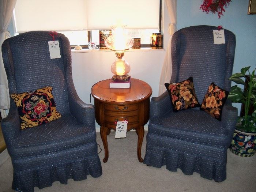
<path id="1" fill-rule="evenodd" d="M 76 91 L 68 89 L 68 100 L 71 114 L 81 123 L 95 127 L 94 105 L 84 103 Z"/>

